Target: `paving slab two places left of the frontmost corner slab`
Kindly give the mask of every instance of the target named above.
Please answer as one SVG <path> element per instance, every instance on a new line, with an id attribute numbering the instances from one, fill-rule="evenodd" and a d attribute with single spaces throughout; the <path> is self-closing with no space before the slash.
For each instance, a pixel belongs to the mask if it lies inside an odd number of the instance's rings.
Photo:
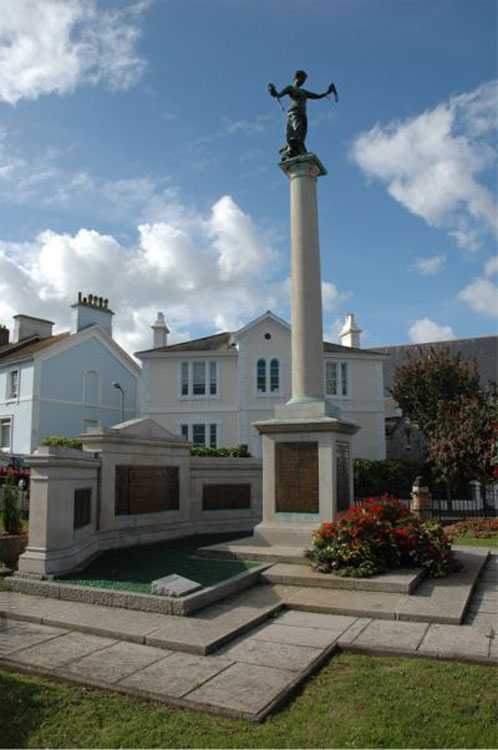
<path id="1" fill-rule="evenodd" d="M 170 656 L 173 651 L 142 646 L 128 641 L 114 641 L 111 646 L 66 664 L 61 674 L 112 684 L 129 677 L 154 662 Z"/>

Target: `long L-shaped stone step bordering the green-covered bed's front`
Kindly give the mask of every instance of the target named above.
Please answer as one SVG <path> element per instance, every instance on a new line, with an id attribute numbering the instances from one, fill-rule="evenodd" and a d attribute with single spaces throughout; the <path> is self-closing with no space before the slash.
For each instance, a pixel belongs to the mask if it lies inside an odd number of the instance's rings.
<path id="1" fill-rule="evenodd" d="M 193 617 L 0 592 L 0 617 L 193 654 L 216 650 L 281 607 L 281 599 L 269 586 L 235 594 Z"/>

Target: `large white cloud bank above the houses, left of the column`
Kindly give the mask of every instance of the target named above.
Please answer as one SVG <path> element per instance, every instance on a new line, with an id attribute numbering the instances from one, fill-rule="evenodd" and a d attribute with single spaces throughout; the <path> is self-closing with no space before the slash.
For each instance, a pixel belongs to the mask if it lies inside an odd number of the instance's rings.
<path id="1" fill-rule="evenodd" d="M 230 196 L 207 215 L 177 204 L 168 220 L 141 224 L 133 247 L 91 229 L 44 231 L 32 243 L 0 242 L 0 322 L 24 312 L 67 329 L 69 305 L 82 291 L 109 299 L 116 338 L 128 351 L 151 346 L 158 310 L 171 341 L 235 330 L 266 309 L 287 315 L 280 261 Z"/>

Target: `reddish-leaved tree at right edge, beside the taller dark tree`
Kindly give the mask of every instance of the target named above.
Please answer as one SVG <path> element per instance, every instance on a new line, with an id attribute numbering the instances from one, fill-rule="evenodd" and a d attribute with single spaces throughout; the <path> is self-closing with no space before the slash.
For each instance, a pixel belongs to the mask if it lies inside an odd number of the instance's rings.
<path id="1" fill-rule="evenodd" d="M 486 487 L 498 478 L 498 391 L 496 384 L 474 396 L 441 400 L 428 458 L 448 481 L 474 477 Z"/>

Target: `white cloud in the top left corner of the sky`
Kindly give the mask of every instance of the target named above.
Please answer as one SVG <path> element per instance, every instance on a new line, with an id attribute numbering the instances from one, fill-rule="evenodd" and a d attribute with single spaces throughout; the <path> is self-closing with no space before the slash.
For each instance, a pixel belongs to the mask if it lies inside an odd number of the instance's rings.
<path id="1" fill-rule="evenodd" d="M 108 10 L 97 0 L 0 0 L 0 99 L 67 94 L 82 83 L 134 85 L 145 67 L 135 45 L 147 5 Z"/>

